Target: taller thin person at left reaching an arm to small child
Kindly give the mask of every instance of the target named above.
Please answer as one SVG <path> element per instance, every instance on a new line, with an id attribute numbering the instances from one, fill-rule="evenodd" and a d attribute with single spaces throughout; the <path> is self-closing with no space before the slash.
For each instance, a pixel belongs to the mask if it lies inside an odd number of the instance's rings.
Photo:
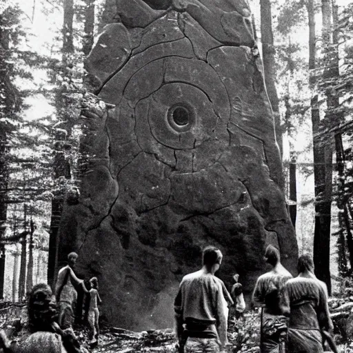
<path id="1" fill-rule="evenodd" d="M 74 286 L 82 285 L 83 290 L 87 292 L 83 279 L 78 279 L 74 274 L 73 269 L 77 257 L 76 252 L 68 254 L 68 265 L 59 271 L 55 285 L 55 296 L 59 304 L 59 326 L 62 329 L 72 327 L 72 323 L 74 323 L 74 307 L 77 302 L 77 290 Z"/>

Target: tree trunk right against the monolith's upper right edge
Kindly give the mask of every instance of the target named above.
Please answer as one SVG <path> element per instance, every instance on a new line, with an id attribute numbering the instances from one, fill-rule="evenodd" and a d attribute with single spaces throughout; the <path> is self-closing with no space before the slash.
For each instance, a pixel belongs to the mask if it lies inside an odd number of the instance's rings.
<path id="1" fill-rule="evenodd" d="M 263 52 L 263 74 L 265 76 L 265 85 L 268 92 L 268 98 L 272 105 L 274 114 L 274 129 L 279 150 L 283 152 L 283 137 L 281 130 L 281 118 L 279 115 L 279 97 L 275 85 L 275 61 L 274 61 L 274 41 L 272 32 L 272 11 L 270 0 L 260 0 L 261 11 L 261 43 Z"/>

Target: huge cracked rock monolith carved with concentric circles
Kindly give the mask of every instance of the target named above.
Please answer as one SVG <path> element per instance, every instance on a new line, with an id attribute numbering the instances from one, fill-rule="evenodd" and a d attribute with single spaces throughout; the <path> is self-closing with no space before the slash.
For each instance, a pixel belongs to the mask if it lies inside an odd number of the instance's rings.
<path id="1" fill-rule="evenodd" d="M 59 253 L 98 276 L 102 312 L 133 330 L 171 327 L 181 277 L 201 249 L 224 254 L 245 294 L 265 245 L 294 272 L 297 245 L 274 123 L 245 0 L 117 0 L 88 58 L 99 98 L 83 150 L 94 154 Z M 103 106 L 103 104 L 101 104 Z"/>

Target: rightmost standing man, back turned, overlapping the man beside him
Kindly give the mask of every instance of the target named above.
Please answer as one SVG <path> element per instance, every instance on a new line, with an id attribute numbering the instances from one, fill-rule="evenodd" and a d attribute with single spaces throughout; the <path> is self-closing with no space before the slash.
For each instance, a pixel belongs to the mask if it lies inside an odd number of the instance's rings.
<path id="1" fill-rule="evenodd" d="M 314 276 L 310 255 L 299 257 L 298 272 L 283 288 L 284 305 L 290 313 L 288 353 L 323 353 L 323 338 L 330 339 L 327 332 L 333 328 L 325 286 Z"/>

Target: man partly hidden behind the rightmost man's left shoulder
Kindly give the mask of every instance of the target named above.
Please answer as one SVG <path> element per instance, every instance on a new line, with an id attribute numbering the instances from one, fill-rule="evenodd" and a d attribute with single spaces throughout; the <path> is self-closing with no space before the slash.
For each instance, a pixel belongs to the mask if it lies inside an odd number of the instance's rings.
<path id="1" fill-rule="evenodd" d="M 268 245 L 264 258 L 272 266 L 272 270 L 257 279 L 252 304 L 261 307 L 261 353 L 270 353 L 283 349 L 283 327 L 286 327 L 286 319 L 281 315 L 280 296 L 283 286 L 292 278 L 292 274 L 281 264 L 279 250 L 273 245 Z M 278 308 L 275 309 L 274 305 Z"/>

